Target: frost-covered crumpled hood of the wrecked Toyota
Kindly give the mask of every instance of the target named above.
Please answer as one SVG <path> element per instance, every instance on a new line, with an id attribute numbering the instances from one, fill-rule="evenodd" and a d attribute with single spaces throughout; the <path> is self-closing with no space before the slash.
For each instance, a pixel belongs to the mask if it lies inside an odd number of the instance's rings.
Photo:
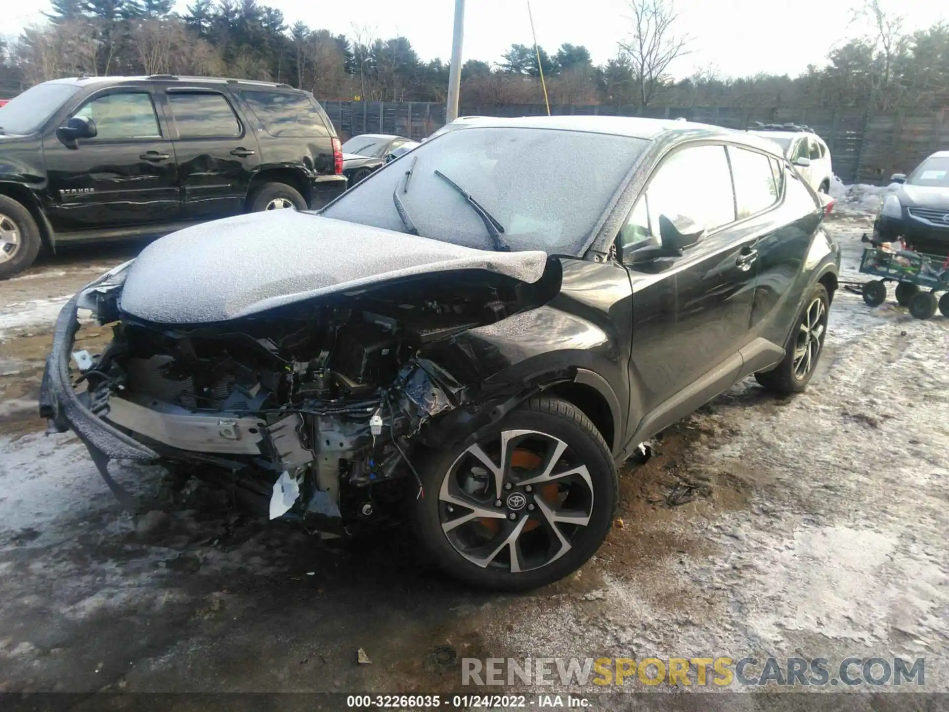
<path id="1" fill-rule="evenodd" d="M 128 272 L 121 310 L 158 324 L 214 323 L 425 272 L 488 270 L 533 283 L 546 264 L 543 252 L 485 252 L 295 210 L 269 211 L 153 242 Z"/>

